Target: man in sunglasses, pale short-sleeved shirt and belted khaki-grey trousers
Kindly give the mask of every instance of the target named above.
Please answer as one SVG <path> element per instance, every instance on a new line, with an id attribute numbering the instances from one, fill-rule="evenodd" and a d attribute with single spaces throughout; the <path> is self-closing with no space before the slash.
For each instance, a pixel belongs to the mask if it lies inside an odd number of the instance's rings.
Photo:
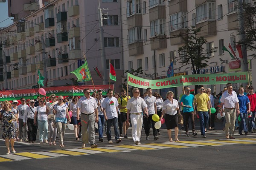
<path id="1" fill-rule="evenodd" d="M 96 99 L 90 96 L 90 89 L 84 89 L 82 96 L 77 105 L 77 114 L 81 113 L 81 130 L 82 130 L 82 148 L 85 148 L 85 143 L 89 143 L 91 148 L 97 147 L 95 144 L 95 122 L 99 121 L 98 105 Z M 86 123 L 85 123 L 86 122 Z"/>

